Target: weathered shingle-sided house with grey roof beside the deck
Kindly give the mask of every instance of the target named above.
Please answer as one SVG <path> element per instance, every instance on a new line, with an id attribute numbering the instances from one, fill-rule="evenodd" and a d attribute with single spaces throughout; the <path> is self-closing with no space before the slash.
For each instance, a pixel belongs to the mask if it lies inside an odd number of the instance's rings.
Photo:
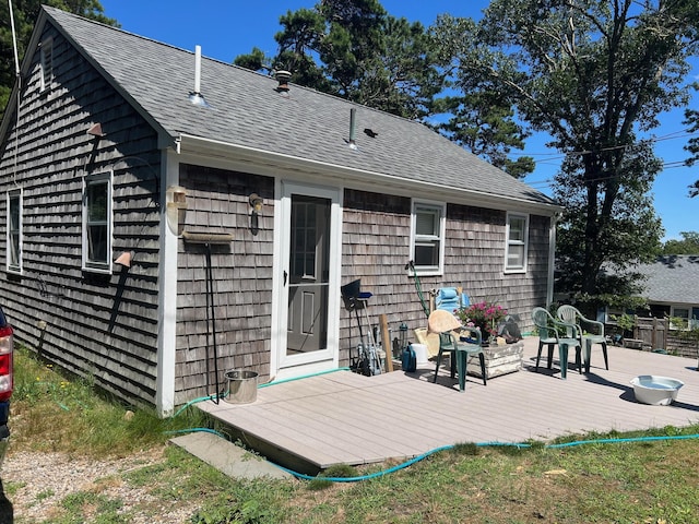
<path id="1" fill-rule="evenodd" d="M 372 322 L 425 325 L 411 260 L 524 330 L 550 300 L 560 207 L 419 122 L 46 7 L 10 99 L 16 337 L 162 415 L 228 369 L 347 366 L 353 281 Z"/>

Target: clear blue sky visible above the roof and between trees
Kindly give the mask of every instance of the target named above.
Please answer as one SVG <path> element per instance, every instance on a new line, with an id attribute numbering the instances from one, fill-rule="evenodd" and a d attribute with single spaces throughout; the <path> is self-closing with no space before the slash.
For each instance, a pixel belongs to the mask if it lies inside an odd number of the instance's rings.
<path id="1" fill-rule="evenodd" d="M 312 8 L 315 0 L 100 0 L 105 14 L 116 19 L 125 31 L 183 49 L 202 47 L 202 55 L 232 62 L 238 55 L 257 46 L 268 55 L 276 53 L 274 34 L 281 29 L 279 17 L 286 11 Z M 383 8 L 393 16 L 431 24 L 438 14 L 479 17 L 487 0 L 382 0 Z M 699 63 L 691 73 L 699 80 Z M 699 96 L 692 107 L 699 108 Z M 683 150 L 688 136 L 683 132 L 683 110 L 661 117 L 661 128 L 653 134 L 657 141 L 656 154 L 666 168 L 657 176 L 653 187 L 655 210 L 665 227 L 665 239 L 680 238 L 680 231 L 697 231 L 699 198 L 687 196 L 687 186 L 699 179 L 699 168 L 676 167 L 687 157 Z M 525 150 L 537 160 L 536 170 L 526 178 L 534 188 L 549 192 L 549 181 L 557 170 L 560 156 L 547 150 L 545 138 L 534 136 Z"/>

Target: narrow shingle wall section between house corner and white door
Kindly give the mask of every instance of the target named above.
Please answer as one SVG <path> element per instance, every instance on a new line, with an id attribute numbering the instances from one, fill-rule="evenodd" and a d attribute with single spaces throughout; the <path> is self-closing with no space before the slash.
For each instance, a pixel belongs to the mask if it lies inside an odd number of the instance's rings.
<path id="1" fill-rule="evenodd" d="M 228 233 L 234 239 L 211 246 L 213 314 L 206 298 L 206 247 L 180 240 L 177 404 L 216 392 L 214 342 L 221 385 L 226 385 L 224 372 L 235 368 L 269 377 L 274 213 L 274 179 L 269 177 L 182 165 L 180 186 L 187 189 L 185 230 Z M 253 192 L 264 199 L 257 235 L 250 228 L 248 201 Z"/>

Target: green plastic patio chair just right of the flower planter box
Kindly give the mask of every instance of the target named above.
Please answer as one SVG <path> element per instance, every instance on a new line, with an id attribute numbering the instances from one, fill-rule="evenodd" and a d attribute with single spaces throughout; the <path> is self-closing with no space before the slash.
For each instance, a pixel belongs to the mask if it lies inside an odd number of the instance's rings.
<path id="1" fill-rule="evenodd" d="M 536 353 L 536 367 L 534 370 L 538 372 L 538 362 L 542 358 L 542 348 L 544 346 L 548 346 L 547 368 L 552 368 L 554 346 L 558 345 L 560 378 L 565 379 L 568 374 L 568 349 L 570 347 L 576 348 L 576 365 L 578 366 L 578 370 L 582 373 L 582 364 L 580 362 L 582 345 L 577 336 L 578 326 L 576 324 L 569 324 L 560 320 L 556 320 L 544 308 L 534 308 L 532 310 L 532 320 L 538 331 L 538 352 Z M 570 336 L 568 336 L 569 333 L 571 334 Z"/>

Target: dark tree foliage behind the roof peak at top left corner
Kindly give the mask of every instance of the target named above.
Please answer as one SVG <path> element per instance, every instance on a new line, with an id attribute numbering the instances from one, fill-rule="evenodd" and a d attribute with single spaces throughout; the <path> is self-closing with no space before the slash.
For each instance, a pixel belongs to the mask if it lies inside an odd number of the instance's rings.
<path id="1" fill-rule="evenodd" d="M 104 8 L 98 0 L 25 0 L 12 2 L 20 62 L 32 36 L 32 31 L 39 15 L 42 4 L 80 14 L 81 16 L 93 19 L 104 24 L 118 26 L 115 20 L 104 15 Z M 2 4 L 0 4 L 0 108 L 3 111 L 8 105 L 8 99 L 16 79 L 9 5 L 9 2 L 2 2 Z M 0 118 L 2 118 L 1 114 Z"/>

